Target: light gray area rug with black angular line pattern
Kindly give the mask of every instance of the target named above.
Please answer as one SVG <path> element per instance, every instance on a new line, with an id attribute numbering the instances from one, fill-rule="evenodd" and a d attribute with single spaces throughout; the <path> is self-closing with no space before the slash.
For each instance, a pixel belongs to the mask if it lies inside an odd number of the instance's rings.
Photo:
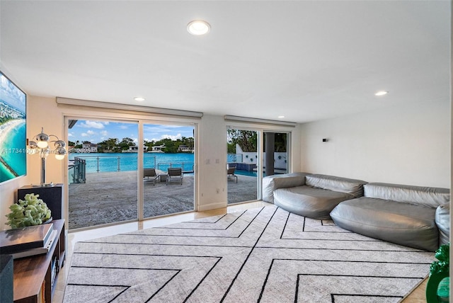
<path id="1" fill-rule="evenodd" d="M 64 302 L 398 302 L 432 261 L 269 206 L 78 242 Z"/>

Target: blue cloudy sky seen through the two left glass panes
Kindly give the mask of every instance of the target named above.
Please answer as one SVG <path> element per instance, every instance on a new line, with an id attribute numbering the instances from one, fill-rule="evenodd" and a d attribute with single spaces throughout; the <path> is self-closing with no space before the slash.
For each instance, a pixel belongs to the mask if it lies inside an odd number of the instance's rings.
<path id="1" fill-rule="evenodd" d="M 78 120 L 76 125 L 68 130 L 69 141 L 89 141 L 99 143 L 109 138 L 130 137 L 138 142 L 138 124 L 125 122 L 107 122 L 95 120 Z M 180 139 L 181 137 L 193 137 L 192 126 L 180 125 L 156 125 L 145 124 L 143 138 L 147 141 L 159 141 L 160 139 Z"/>

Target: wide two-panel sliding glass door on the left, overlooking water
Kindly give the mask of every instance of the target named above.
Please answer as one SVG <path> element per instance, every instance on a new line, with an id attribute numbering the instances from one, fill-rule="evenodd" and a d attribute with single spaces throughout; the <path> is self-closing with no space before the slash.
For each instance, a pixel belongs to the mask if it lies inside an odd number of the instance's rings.
<path id="1" fill-rule="evenodd" d="M 69 229 L 195 209 L 195 127 L 67 118 Z M 180 171 L 169 176 L 169 169 Z"/>

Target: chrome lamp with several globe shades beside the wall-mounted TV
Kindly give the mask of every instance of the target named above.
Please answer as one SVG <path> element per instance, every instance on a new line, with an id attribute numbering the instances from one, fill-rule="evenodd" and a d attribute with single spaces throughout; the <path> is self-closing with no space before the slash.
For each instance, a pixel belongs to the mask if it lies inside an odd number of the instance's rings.
<path id="1" fill-rule="evenodd" d="M 50 137 L 57 138 L 56 140 L 49 141 Z M 54 142 L 55 149 L 49 148 L 49 143 Z M 63 140 L 58 139 L 55 135 L 46 135 L 44 133 L 44 128 L 41 127 L 40 134 L 35 136 L 35 141 L 28 142 L 29 154 L 40 154 L 41 156 L 41 184 L 40 186 L 52 186 L 53 183 L 46 184 L 45 183 L 45 159 L 49 154 L 55 154 L 55 158 L 57 160 L 64 159 L 66 155 L 66 143 Z"/>

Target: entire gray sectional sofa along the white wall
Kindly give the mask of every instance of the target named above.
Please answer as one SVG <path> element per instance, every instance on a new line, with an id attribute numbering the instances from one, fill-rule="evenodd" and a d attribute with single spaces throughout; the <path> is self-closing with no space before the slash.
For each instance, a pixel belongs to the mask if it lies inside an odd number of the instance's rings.
<path id="1" fill-rule="evenodd" d="M 449 242 L 447 188 L 365 181 L 311 173 L 263 178 L 263 201 L 376 239 L 435 251 Z"/>

